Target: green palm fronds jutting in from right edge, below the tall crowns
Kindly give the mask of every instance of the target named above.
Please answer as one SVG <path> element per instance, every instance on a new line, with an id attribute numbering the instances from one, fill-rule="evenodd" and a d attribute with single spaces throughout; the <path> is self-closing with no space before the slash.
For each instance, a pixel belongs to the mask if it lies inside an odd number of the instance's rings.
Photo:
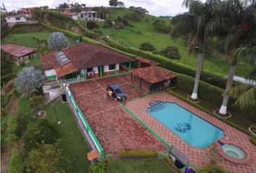
<path id="1" fill-rule="evenodd" d="M 234 105 L 242 109 L 254 107 L 256 105 L 256 44 L 236 49 L 234 56 L 239 56 L 245 63 L 254 66 L 247 76 L 247 79 L 252 79 L 252 82 L 249 85 L 231 87 L 225 94 L 236 98 Z"/>

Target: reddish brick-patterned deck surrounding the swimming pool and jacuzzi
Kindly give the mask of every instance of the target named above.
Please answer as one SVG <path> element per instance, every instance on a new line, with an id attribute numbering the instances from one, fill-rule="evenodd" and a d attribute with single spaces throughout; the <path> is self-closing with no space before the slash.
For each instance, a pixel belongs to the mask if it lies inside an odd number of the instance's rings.
<path id="1" fill-rule="evenodd" d="M 229 142 L 236 143 L 242 146 L 249 152 L 251 161 L 249 164 L 233 164 L 229 161 L 223 160 L 219 161 L 218 165 L 235 173 L 255 173 L 256 172 L 256 147 L 249 141 L 249 136 L 242 133 L 240 130 L 231 127 L 230 125 L 223 123 L 223 121 L 218 120 L 218 118 L 208 115 L 208 113 L 197 109 L 196 107 L 189 105 L 187 102 L 168 94 L 167 92 L 161 92 L 158 94 L 151 94 L 148 97 L 143 97 L 140 99 L 134 99 L 127 102 L 126 107 L 131 110 L 137 117 L 140 118 L 144 123 L 150 126 L 155 133 L 158 133 L 166 142 L 171 145 L 176 146 L 184 154 L 189 156 L 191 159 L 190 164 L 195 164 L 197 167 L 206 167 L 209 164 L 208 150 L 201 148 L 192 148 L 185 141 L 183 141 L 171 130 L 168 130 L 164 125 L 155 120 L 151 115 L 148 114 L 147 110 L 149 103 L 151 101 L 162 101 L 162 102 L 175 102 L 176 104 L 184 107 L 193 114 L 201 117 L 202 119 L 212 123 L 216 127 L 220 128 L 224 132 L 224 139 Z"/>

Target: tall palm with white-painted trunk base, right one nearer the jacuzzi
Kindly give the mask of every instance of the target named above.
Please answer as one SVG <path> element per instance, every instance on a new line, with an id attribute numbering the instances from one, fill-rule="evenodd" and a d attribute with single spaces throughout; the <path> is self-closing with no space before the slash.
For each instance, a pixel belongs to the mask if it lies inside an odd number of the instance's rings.
<path id="1" fill-rule="evenodd" d="M 234 56 L 236 48 L 241 47 L 248 40 L 255 38 L 255 5 L 247 6 L 246 2 L 227 0 L 218 3 L 213 8 L 213 20 L 206 28 L 206 35 L 225 37 L 226 56 L 230 60 L 229 75 L 226 82 L 227 92 L 233 82 L 236 63 L 239 56 Z M 226 115 L 229 95 L 223 94 L 223 102 L 218 113 Z"/>

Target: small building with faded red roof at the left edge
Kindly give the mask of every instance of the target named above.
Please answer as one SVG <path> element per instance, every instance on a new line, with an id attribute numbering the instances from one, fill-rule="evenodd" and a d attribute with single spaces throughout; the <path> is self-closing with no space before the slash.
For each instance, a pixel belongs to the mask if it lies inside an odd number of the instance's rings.
<path id="1" fill-rule="evenodd" d="M 6 44 L 1 45 L 1 50 L 11 55 L 16 63 L 27 63 L 35 57 L 35 48 L 30 48 L 22 45 Z"/>

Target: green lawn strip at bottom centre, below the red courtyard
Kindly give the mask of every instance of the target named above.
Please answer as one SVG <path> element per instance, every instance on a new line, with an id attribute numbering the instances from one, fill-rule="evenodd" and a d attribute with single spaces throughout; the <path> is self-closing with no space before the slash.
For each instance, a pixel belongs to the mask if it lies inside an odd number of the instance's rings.
<path id="1" fill-rule="evenodd" d="M 108 161 L 110 173 L 173 173 L 174 170 L 161 159 L 123 159 Z"/>

